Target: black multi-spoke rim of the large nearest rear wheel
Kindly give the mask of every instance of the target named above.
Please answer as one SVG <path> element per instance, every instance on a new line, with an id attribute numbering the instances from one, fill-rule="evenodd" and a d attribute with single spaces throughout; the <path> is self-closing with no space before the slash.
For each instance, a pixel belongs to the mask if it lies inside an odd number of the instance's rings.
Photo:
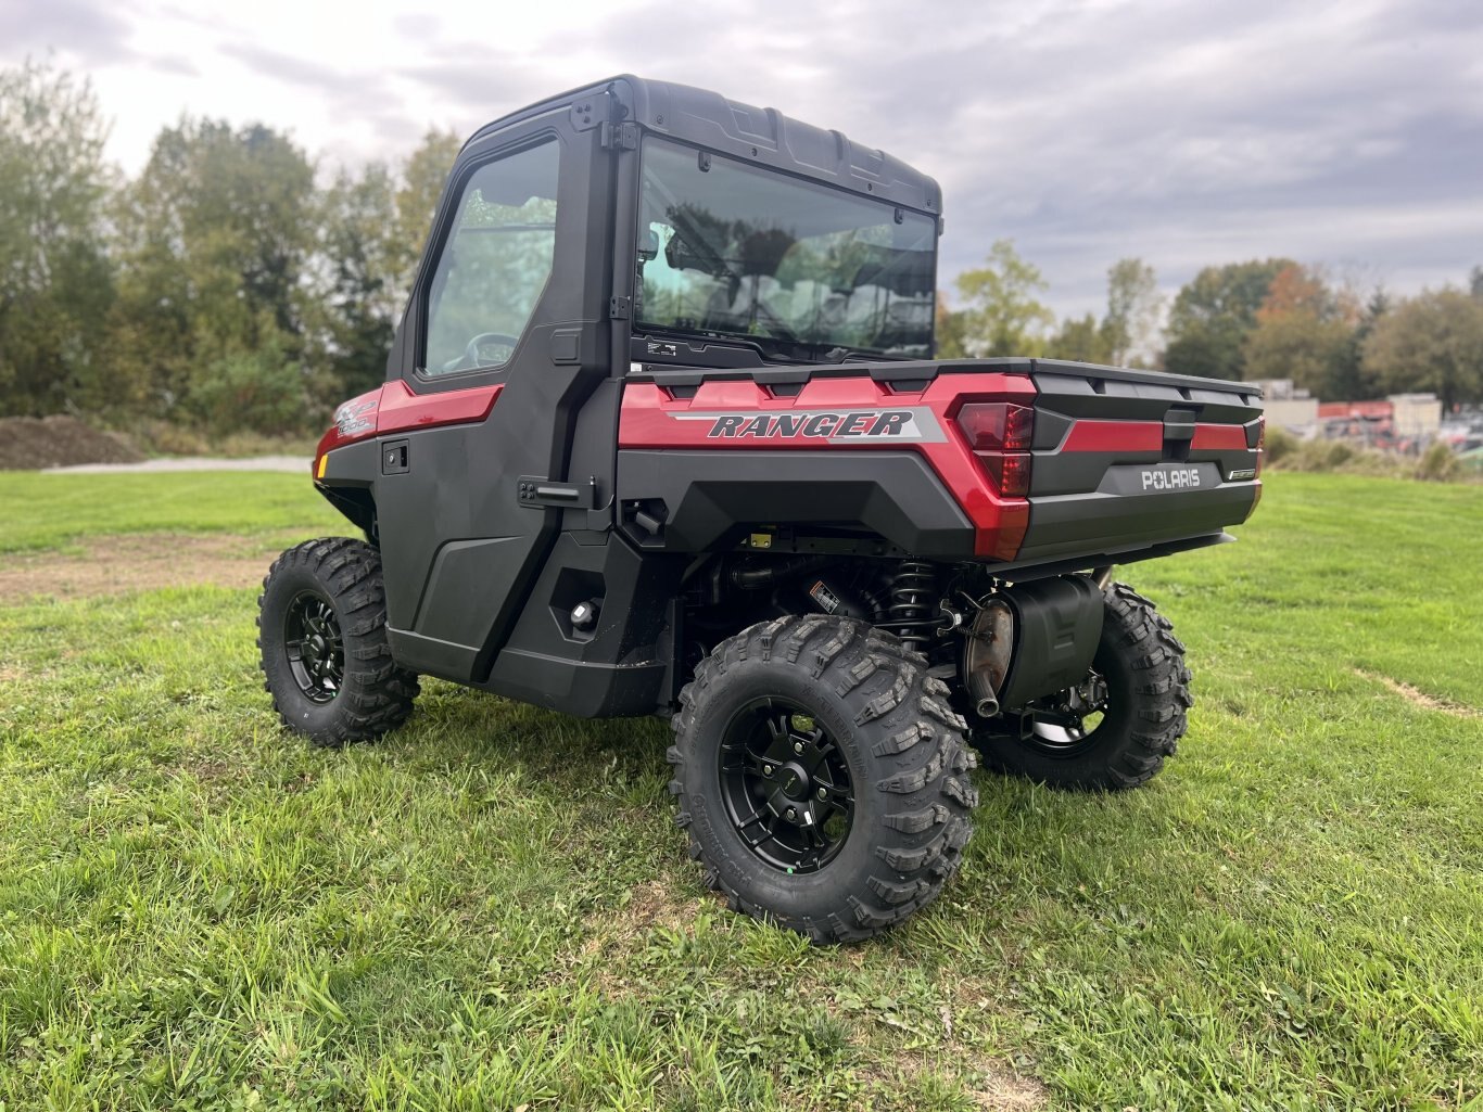
<path id="1" fill-rule="evenodd" d="M 807 707 L 752 700 L 727 724 L 719 764 L 727 814 L 759 860 L 811 873 L 844 848 L 854 783 L 839 746 Z"/>

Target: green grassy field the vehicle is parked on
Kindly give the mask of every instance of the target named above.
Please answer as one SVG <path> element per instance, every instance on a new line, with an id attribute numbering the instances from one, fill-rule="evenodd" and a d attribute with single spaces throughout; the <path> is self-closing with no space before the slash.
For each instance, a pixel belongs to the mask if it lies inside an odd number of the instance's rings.
<path id="1" fill-rule="evenodd" d="M 0 572 L 340 531 L 297 476 L 0 504 Z M 1278 474 L 1241 535 L 1126 569 L 1195 670 L 1164 775 L 977 774 L 948 894 L 830 950 L 703 893 L 660 722 L 429 682 L 311 752 L 246 583 L 12 590 L 0 1109 L 1479 1108 L 1483 489 Z"/>

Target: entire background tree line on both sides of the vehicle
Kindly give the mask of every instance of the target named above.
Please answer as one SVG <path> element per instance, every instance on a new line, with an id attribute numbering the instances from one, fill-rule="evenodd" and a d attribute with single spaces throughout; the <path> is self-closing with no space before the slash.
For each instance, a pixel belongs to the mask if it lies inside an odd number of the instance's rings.
<path id="1" fill-rule="evenodd" d="M 262 125 L 184 117 L 144 169 L 104 157 L 86 82 L 0 70 L 0 415 L 162 418 L 295 431 L 383 380 L 460 139 L 341 169 Z M 995 243 L 939 298 L 939 354 L 1048 356 L 1320 397 L 1434 390 L 1483 400 L 1483 268 L 1413 298 L 1274 258 L 1201 270 L 1167 307 L 1148 264 L 1108 271 L 1103 314 L 1057 320 L 1041 271 Z"/>

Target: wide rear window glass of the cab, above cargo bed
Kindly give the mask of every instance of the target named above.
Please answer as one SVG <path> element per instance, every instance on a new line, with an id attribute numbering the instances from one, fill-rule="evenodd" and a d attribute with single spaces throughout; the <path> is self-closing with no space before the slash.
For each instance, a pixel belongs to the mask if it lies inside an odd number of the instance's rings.
<path id="1" fill-rule="evenodd" d="M 933 216 L 658 139 L 639 215 L 639 326 L 931 354 Z"/>

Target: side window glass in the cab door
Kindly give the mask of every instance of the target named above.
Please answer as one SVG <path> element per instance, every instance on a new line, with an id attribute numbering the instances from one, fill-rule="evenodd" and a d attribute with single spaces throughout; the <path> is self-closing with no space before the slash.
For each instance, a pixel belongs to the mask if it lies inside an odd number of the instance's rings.
<path id="1" fill-rule="evenodd" d="M 464 182 L 429 289 L 424 374 L 510 360 L 552 273 L 558 162 L 558 144 L 543 142 Z"/>

